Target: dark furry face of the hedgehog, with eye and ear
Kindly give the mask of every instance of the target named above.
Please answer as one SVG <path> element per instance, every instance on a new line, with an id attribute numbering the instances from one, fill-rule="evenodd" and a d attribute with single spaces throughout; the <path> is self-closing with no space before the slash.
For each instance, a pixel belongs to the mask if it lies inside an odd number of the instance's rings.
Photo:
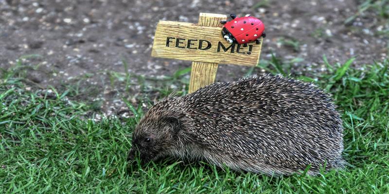
<path id="1" fill-rule="evenodd" d="M 159 159 L 166 155 L 167 148 L 174 142 L 174 130 L 178 127 L 175 117 L 157 119 L 144 118 L 132 134 L 132 147 L 127 160 L 133 161 L 137 156 L 142 163 Z"/>

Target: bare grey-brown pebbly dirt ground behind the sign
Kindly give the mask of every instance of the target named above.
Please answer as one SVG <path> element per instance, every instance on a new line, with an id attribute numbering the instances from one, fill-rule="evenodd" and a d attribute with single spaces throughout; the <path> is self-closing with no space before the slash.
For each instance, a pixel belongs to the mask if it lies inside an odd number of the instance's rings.
<path id="1" fill-rule="evenodd" d="M 259 4 L 258 4 L 259 3 Z M 295 60 L 294 74 L 325 71 L 356 56 L 354 68 L 388 57 L 389 24 L 374 11 L 360 12 L 358 0 L 0 0 L 0 67 L 9 68 L 27 54 L 27 80 L 33 87 L 73 88 L 73 98 L 98 102 L 106 114 L 128 115 L 122 97 L 152 92 L 161 81 L 140 83 L 123 72 L 161 78 L 191 62 L 152 58 L 159 20 L 197 23 L 200 12 L 251 14 L 266 26 L 262 60 L 271 53 Z M 355 16 L 355 17 L 352 17 Z M 351 19 L 349 19 L 352 17 Z M 123 64 L 127 62 L 128 68 Z M 36 65 L 38 64 L 38 65 Z M 243 77 L 248 67 L 220 65 L 217 81 Z M 260 69 L 255 69 L 260 71 Z M 122 73 L 122 74 L 121 74 Z M 117 79 L 117 80 L 115 80 Z M 184 79 L 189 79 L 189 74 Z M 124 85 L 131 86 L 124 89 Z M 182 86 L 170 85 L 171 88 Z M 75 89 L 74 89 L 75 88 Z M 74 92 L 75 91 L 75 92 Z"/>

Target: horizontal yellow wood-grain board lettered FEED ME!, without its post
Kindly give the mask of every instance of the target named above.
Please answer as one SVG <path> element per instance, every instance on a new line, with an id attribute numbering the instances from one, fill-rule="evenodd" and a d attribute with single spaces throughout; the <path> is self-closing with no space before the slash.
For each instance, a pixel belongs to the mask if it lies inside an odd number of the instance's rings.
<path id="1" fill-rule="evenodd" d="M 201 24 L 219 25 L 220 19 L 202 19 L 200 17 Z M 224 51 L 220 49 L 217 52 L 218 43 L 221 42 L 226 48 L 230 46 L 221 34 L 221 27 L 207 27 L 197 26 L 192 23 L 186 22 L 173 22 L 173 21 L 159 21 L 157 26 L 157 32 L 155 33 L 154 45 L 151 55 L 154 57 L 179 59 L 196 62 L 209 62 L 218 64 L 234 64 L 234 65 L 248 65 L 255 66 L 258 64 L 258 60 L 261 53 L 261 44 L 250 43 L 252 45 L 251 54 L 247 54 L 249 47 L 240 46 L 240 52 L 237 53 L 238 45 L 235 45 L 234 52 L 230 50 Z M 166 46 L 167 37 L 172 37 L 169 47 Z M 175 47 L 177 38 L 182 38 L 180 47 Z M 201 49 L 187 49 L 187 40 L 193 41 L 193 48 L 198 48 L 199 40 L 207 40 L 212 44 L 212 47 L 207 50 Z M 206 47 L 206 45 L 204 46 Z"/>

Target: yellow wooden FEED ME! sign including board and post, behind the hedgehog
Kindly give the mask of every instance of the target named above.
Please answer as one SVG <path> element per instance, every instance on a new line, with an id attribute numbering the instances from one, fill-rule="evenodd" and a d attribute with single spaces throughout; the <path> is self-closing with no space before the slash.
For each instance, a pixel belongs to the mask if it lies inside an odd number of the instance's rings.
<path id="1" fill-rule="evenodd" d="M 226 15 L 200 13 L 198 24 L 159 21 L 151 52 L 153 57 L 193 61 L 189 93 L 215 81 L 218 64 L 255 66 L 261 43 L 243 45 L 227 42 L 220 20 Z"/>

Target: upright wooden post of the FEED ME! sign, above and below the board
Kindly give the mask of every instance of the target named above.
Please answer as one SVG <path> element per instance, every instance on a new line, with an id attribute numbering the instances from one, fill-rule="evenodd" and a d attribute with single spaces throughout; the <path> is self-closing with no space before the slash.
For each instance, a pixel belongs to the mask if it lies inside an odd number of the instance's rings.
<path id="1" fill-rule="evenodd" d="M 220 20 L 226 19 L 226 15 L 200 13 L 198 26 L 221 27 Z M 215 81 L 217 63 L 192 62 L 191 81 L 189 83 L 189 93 L 195 92 L 200 87 L 209 85 Z"/>

